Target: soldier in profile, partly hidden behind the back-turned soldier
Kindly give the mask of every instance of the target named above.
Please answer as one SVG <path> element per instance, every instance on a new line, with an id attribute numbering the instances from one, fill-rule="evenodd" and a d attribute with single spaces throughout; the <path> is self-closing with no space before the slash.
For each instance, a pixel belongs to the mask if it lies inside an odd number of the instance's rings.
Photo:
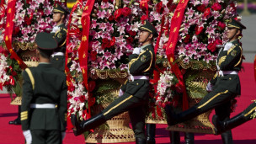
<path id="1" fill-rule="evenodd" d="M 58 42 L 58 48 L 54 51 L 51 56 L 51 64 L 53 67 L 64 72 L 65 69 L 65 52 L 66 52 L 66 37 L 67 28 L 64 21 L 69 12 L 61 7 L 60 4 L 56 3 L 53 8 L 53 21 L 56 22 L 56 26 L 52 29 L 51 35 Z"/>

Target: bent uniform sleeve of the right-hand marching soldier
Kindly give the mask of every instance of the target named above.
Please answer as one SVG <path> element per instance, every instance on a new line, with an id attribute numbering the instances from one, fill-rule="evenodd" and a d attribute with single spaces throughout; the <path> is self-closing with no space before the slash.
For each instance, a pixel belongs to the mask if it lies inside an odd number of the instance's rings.
<path id="1" fill-rule="evenodd" d="M 218 65 L 222 71 L 230 70 L 232 67 L 237 67 L 242 61 L 242 47 L 234 45 L 230 50 L 225 51 L 226 54 L 221 56 Z"/>

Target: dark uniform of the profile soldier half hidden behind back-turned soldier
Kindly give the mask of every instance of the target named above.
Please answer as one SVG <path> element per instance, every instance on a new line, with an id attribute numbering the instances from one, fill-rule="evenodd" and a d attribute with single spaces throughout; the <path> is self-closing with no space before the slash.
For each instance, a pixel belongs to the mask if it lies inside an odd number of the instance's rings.
<path id="1" fill-rule="evenodd" d="M 60 24 L 53 28 L 51 35 L 58 42 L 58 48 L 54 51 L 51 56 L 51 63 L 53 67 L 64 72 L 65 69 L 65 52 L 66 52 L 66 38 L 67 38 L 67 28 L 65 24 Z M 58 55 L 61 54 L 61 55 Z"/>

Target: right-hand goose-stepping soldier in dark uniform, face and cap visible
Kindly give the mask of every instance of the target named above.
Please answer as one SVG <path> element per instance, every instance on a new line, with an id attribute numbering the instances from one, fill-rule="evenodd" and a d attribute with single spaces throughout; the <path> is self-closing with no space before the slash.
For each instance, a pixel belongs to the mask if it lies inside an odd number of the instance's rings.
<path id="1" fill-rule="evenodd" d="M 218 115 L 221 121 L 229 120 L 231 101 L 241 94 L 238 72 L 241 70 L 243 61 L 243 49 L 238 37 L 241 35 L 242 29 L 246 29 L 243 24 L 236 19 L 230 19 L 230 22 L 227 24 L 227 38 L 229 42 L 219 51 L 216 61 L 216 76 L 207 86 L 208 89 L 211 89 L 212 85 L 212 91 L 205 95 L 199 104 L 179 114 L 173 114 L 172 108 L 167 106 L 165 110 L 168 115 L 168 125 L 175 125 L 190 120 L 213 108 L 215 108 L 216 115 Z M 223 143 L 232 143 L 232 132 L 226 131 L 222 133 L 221 138 Z"/>

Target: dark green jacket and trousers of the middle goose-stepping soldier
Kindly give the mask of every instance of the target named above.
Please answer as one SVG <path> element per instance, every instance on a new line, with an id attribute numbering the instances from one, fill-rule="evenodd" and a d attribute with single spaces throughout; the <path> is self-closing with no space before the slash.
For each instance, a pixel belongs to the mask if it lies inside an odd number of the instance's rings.
<path id="1" fill-rule="evenodd" d="M 129 71 L 132 76 L 152 76 L 155 56 L 152 45 L 141 47 L 140 55 L 129 56 Z M 125 92 L 112 104 L 103 110 L 105 120 L 109 120 L 115 115 L 129 111 L 131 125 L 136 137 L 145 139 L 145 116 L 147 113 L 148 79 L 135 79 L 125 83 L 122 90 Z"/>

